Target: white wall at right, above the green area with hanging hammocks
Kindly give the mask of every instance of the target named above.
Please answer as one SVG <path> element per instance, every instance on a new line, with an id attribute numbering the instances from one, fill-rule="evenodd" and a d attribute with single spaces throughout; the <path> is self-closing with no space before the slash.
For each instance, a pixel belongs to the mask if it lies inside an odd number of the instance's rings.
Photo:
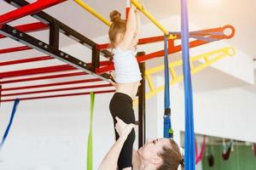
<path id="1" fill-rule="evenodd" d="M 207 86 L 207 82 L 201 80 L 201 83 Z M 171 94 L 173 126 L 183 131 L 183 86 L 172 86 Z M 162 93 L 158 99 L 158 104 L 162 105 Z M 256 129 L 255 101 L 256 85 L 194 92 L 195 133 L 256 142 L 253 135 Z M 160 120 L 158 126 L 162 126 Z"/>

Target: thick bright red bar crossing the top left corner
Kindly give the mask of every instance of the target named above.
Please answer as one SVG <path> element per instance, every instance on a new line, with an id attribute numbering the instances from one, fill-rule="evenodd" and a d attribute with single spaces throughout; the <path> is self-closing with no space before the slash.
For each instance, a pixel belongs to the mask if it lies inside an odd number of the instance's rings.
<path id="1" fill-rule="evenodd" d="M 28 14 L 35 14 L 44 8 L 49 8 L 57 3 L 62 3 L 66 0 L 38 0 L 35 3 L 30 3 L 24 7 L 17 8 L 9 13 L 0 15 L 0 25 L 7 22 L 20 19 Z"/>

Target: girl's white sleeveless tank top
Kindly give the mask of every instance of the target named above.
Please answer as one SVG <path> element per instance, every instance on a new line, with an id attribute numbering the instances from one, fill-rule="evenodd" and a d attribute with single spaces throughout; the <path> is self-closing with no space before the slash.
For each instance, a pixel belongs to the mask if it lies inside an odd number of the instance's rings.
<path id="1" fill-rule="evenodd" d="M 115 81 L 119 83 L 138 82 L 142 80 L 136 51 L 122 50 L 119 47 L 113 49 L 113 64 L 115 68 Z"/>

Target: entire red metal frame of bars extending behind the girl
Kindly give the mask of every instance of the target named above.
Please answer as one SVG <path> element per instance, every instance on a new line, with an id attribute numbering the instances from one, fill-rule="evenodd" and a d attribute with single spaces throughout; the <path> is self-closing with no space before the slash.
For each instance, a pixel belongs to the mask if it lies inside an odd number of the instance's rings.
<path id="1" fill-rule="evenodd" d="M 43 10 L 44 8 L 49 8 L 50 6 L 53 6 L 57 3 L 62 3 L 67 0 L 38 0 L 35 3 L 30 3 L 24 7 L 17 8 L 9 13 L 0 15 L 0 28 L 3 24 L 8 23 L 12 20 L 20 19 L 21 17 L 24 17 L 28 14 L 35 14 L 38 11 Z M 40 31 L 45 30 L 48 28 L 47 25 L 37 22 L 32 24 L 26 24 L 21 26 L 15 26 L 17 30 L 24 31 L 24 32 L 30 32 L 30 31 Z M 224 35 L 224 30 L 230 28 L 232 30 L 232 33 L 227 36 Z M 214 35 L 212 32 L 222 32 L 222 35 Z M 214 39 L 228 39 L 230 37 L 233 37 L 235 34 L 235 28 L 233 26 L 224 26 L 222 28 L 214 28 L 214 29 L 207 29 L 203 31 L 197 31 L 192 34 L 192 36 L 200 36 L 200 37 L 208 37 L 208 38 L 214 38 Z M 0 35 L 0 38 L 3 38 L 3 35 Z M 151 42 L 159 42 L 163 41 L 164 37 L 147 37 L 142 38 L 139 40 L 138 44 L 145 44 L 145 43 L 151 43 Z M 180 39 L 180 35 L 177 34 L 177 38 Z M 177 53 L 181 50 L 181 45 L 174 46 L 175 40 L 168 40 L 169 42 L 169 49 L 168 54 Z M 189 42 L 189 47 L 193 48 L 196 46 L 200 46 L 202 44 L 206 44 L 208 42 L 201 41 L 201 40 L 195 40 Z M 97 48 L 102 50 L 104 48 L 108 48 L 108 43 L 106 44 L 99 44 L 97 45 Z M 31 49 L 27 46 L 21 46 L 16 48 L 6 48 L 6 49 L 0 49 L 0 54 L 5 53 L 11 53 L 11 52 L 17 52 L 22 50 Z M 160 57 L 164 55 L 164 50 L 160 50 L 151 54 L 145 54 L 143 56 L 138 56 L 137 61 L 138 62 L 144 62 L 148 59 L 153 59 L 156 57 Z M 3 65 L 16 65 L 21 63 L 28 63 L 28 62 L 35 62 L 40 60 L 46 60 L 46 59 L 53 59 L 50 56 L 42 56 L 37 58 L 30 58 L 30 59 L 17 59 L 17 60 L 11 60 L 11 61 L 5 61 L 0 63 L 0 66 Z M 71 65 L 54 65 L 54 66 L 47 66 L 47 67 L 41 67 L 41 68 L 35 68 L 35 69 L 26 69 L 26 70 L 20 70 L 20 71 L 7 71 L 0 73 L 0 79 L 6 78 L 6 77 L 21 77 L 21 76 L 29 76 L 29 75 L 35 75 L 35 74 L 44 74 L 44 73 L 51 73 L 51 72 L 58 72 L 58 71 L 73 71 L 77 70 L 75 67 Z M 97 69 L 97 74 L 102 74 L 106 71 L 113 70 L 113 63 L 111 61 L 102 61 L 100 62 L 100 68 Z M 26 82 L 26 81 L 34 81 L 34 80 L 43 80 L 43 79 L 53 79 L 53 78 L 60 78 L 60 77 L 75 77 L 75 76 L 82 76 L 87 75 L 85 72 L 76 72 L 76 73 L 65 73 L 65 74 L 58 74 L 58 75 L 50 75 L 50 76 L 42 76 L 42 77 L 29 77 L 29 78 L 20 78 L 15 80 L 7 80 L 2 81 L 0 84 L 3 83 L 13 83 L 13 82 Z M 99 82 L 102 81 L 100 78 L 92 78 L 87 80 L 77 80 L 77 81 L 69 81 L 69 82 L 55 82 L 55 83 L 47 83 L 47 84 L 39 84 L 39 85 L 31 85 L 31 86 L 23 86 L 23 87 L 15 87 L 15 88 L 1 88 L 0 92 L 0 102 L 8 102 L 13 101 L 14 99 L 1 99 L 2 97 L 7 96 L 15 96 L 15 95 L 26 95 L 26 94 L 44 94 L 44 93 L 52 93 L 52 92 L 61 92 L 61 91 L 69 91 L 69 90 L 78 90 L 78 89 L 85 89 L 85 88 L 106 88 L 111 87 L 111 84 L 100 84 L 100 85 L 90 85 L 90 86 L 80 86 L 80 87 L 74 87 L 74 88 L 56 88 L 56 89 L 47 89 L 47 90 L 38 90 L 38 91 L 32 91 L 32 92 L 21 92 L 21 93 L 12 93 L 12 94 L 3 94 L 4 91 L 11 91 L 11 90 L 20 90 L 20 89 L 28 89 L 28 88 L 45 88 L 45 87 L 54 87 L 54 86 L 61 86 L 61 85 L 69 85 L 69 84 L 77 84 L 77 83 L 84 83 L 84 82 Z M 96 91 L 95 94 L 104 94 L 104 93 L 112 93 L 115 90 L 105 90 L 105 91 Z M 46 95 L 46 96 L 37 96 L 37 97 L 29 97 L 29 98 L 22 98 L 20 100 L 27 100 L 27 99 L 46 99 L 46 98 L 56 98 L 56 97 L 64 97 L 64 96 L 73 96 L 73 95 L 84 95 L 84 94 L 90 94 L 88 93 L 76 93 L 76 94 L 57 94 L 57 95 Z"/>

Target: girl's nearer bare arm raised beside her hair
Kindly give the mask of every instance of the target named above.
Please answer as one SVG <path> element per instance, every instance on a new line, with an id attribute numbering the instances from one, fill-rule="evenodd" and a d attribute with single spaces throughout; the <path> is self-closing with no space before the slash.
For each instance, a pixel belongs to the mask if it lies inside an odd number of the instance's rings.
<path id="1" fill-rule="evenodd" d="M 137 19 L 136 19 L 135 10 L 136 10 L 136 7 L 131 3 L 131 8 L 128 14 L 128 20 L 126 24 L 125 35 L 123 37 L 123 41 L 119 43 L 119 48 L 123 50 L 130 48 L 131 42 L 137 30 L 137 26 L 136 26 Z"/>

